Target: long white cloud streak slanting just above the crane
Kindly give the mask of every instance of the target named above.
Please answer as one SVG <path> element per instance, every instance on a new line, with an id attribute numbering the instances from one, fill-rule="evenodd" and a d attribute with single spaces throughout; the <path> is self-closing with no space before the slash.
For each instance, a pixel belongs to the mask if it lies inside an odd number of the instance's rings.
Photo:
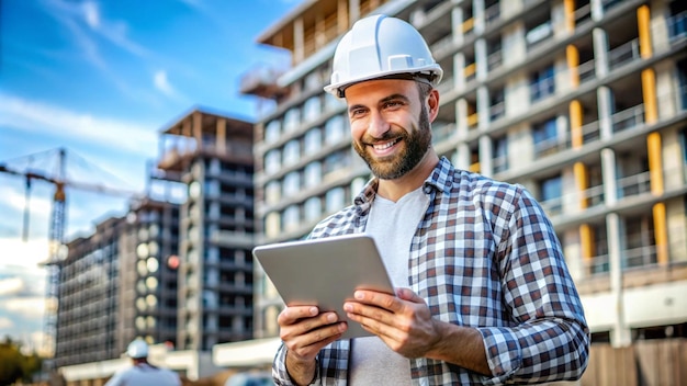
<path id="1" fill-rule="evenodd" d="M 26 129 L 34 135 L 79 137 L 105 148 L 147 156 L 157 149 L 156 133 L 146 125 L 93 116 L 4 93 L 0 93 L 0 125 Z"/>

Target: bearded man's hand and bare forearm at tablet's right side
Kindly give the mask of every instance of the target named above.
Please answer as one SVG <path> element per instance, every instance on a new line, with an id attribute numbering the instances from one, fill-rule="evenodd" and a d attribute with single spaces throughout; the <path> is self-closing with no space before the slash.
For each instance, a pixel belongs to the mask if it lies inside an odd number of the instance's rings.
<path id="1" fill-rule="evenodd" d="M 396 296 L 375 291 L 356 291 L 346 302 L 349 319 L 380 337 L 405 357 L 428 357 L 489 375 L 482 334 L 474 328 L 432 318 L 425 299 L 408 288 Z"/>

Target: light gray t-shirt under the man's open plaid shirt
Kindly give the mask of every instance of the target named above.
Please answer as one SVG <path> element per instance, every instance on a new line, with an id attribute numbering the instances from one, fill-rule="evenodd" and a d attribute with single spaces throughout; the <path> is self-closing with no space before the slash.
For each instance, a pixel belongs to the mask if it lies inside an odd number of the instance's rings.
<path id="1" fill-rule="evenodd" d="M 365 234 L 374 238 L 394 287 L 408 286 L 410 240 L 429 197 L 423 188 L 393 202 L 379 195 L 372 202 Z M 378 337 L 351 341 L 351 385 L 410 385 L 410 362 Z"/>

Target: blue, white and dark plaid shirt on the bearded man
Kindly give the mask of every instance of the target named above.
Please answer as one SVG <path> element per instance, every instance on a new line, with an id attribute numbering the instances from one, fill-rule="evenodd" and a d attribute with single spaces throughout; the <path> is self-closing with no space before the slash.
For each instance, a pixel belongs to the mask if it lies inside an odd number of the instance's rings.
<path id="1" fill-rule="evenodd" d="M 376 192 L 324 219 L 309 238 L 363 232 Z M 520 185 L 457 170 L 442 158 L 424 183 L 430 204 L 410 243 L 408 282 L 435 318 L 477 329 L 492 377 L 412 359 L 414 385 L 495 385 L 577 379 L 589 336 L 562 249 L 541 206 Z M 461 350 L 457 347 L 455 350 Z M 314 384 L 346 385 L 349 341 L 317 356 Z M 282 344 L 272 374 L 291 385 Z"/>

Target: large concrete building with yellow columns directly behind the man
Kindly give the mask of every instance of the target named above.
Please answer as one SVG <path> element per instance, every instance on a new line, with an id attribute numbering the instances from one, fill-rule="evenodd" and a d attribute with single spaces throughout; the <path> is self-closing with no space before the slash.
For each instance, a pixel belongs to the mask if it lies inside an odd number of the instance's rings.
<path id="1" fill-rule="evenodd" d="M 299 239 L 370 178 L 325 94 L 338 38 L 370 13 L 409 21 L 444 70 L 435 147 L 520 183 L 549 214 L 594 341 L 687 336 L 687 12 L 667 0 L 305 1 L 258 41 L 292 53 L 243 92 L 256 128 L 259 242 Z M 256 336 L 282 305 L 256 272 Z"/>

